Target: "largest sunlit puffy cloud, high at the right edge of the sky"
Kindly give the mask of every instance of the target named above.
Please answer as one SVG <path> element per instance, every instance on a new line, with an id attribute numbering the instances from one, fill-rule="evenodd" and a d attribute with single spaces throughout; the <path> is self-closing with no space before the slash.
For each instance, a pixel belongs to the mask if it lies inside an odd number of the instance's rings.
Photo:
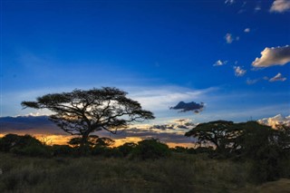
<path id="1" fill-rule="evenodd" d="M 284 47 L 266 47 L 261 52 L 261 57 L 256 58 L 252 63 L 255 67 L 269 67 L 273 65 L 285 65 L 290 62 L 290 46 L 285 45 Z"/>

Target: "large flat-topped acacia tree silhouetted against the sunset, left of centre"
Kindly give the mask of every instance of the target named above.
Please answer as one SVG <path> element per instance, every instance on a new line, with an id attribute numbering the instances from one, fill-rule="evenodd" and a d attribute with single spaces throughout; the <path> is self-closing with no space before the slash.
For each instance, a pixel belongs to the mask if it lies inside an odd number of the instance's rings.
<path id="1" fill-rule="evenodd" d="M 22 101 L 24 108 L 48 109 L 54 113 L 50 120 L 62 130 L 82 137 L 80 148 L 87 144 L 89 135 L 98 130 L 113 134 L 134 121 L 154 119 L 153 113 L 142 110 L 138 101 L 126 97 L 127 92 L 117 88 L 93 88 L 46 94 L 36 101 Z"/>

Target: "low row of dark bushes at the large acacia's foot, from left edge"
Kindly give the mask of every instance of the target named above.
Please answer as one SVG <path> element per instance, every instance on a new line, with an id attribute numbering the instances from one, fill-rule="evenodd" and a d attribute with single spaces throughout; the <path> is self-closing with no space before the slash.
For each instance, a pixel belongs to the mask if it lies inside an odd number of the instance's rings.
<path id="1" fill-rule="evenodd" d="M 138 143 L 127 142 L 119 147 L 111 147 L 114 140 L 92 135 L 88 138 L 84 150 L 80 150 L 81 138 L 73 138 L 68 145 L 46 145 L 31 135 L 6 134 L 0 138 L 0 151 L 20 156 L 32 157 L 80 157 L 104 156 L 130 159 L 160 159 L 168 157 L 170 150 L 167 144 L 157 139 L 141 140 Z"/>

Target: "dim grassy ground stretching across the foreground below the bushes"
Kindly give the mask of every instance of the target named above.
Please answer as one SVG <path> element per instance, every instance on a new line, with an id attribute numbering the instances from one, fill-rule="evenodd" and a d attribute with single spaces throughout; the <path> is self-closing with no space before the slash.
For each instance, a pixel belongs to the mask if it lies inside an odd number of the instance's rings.
<path id="1" fill-rule="evenodd" d="M 248 168 L 247 163 L 206 155 L 142 161 L 0 153 L 0 192 L 290 192 L 289 179 L 250 185 Z"/>

